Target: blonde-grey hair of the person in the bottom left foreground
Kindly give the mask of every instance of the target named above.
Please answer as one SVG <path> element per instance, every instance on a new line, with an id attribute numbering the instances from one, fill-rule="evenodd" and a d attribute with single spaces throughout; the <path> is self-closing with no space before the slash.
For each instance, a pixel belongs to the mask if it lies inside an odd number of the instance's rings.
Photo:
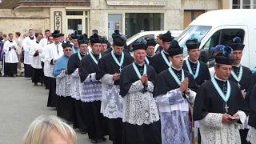
<path id="1" fill-rule="evenodd" d="M 68 138 L 72 142 L 76 143 L 77 136 L 74 130 L 60 118 L 50 116 L 39 116 L 30 124 L 29 129 L 23 138 L 24 144 L 44 144 L 47 134 L 50 130 L 56 130 L 62 135 L 62 138 Z"/>

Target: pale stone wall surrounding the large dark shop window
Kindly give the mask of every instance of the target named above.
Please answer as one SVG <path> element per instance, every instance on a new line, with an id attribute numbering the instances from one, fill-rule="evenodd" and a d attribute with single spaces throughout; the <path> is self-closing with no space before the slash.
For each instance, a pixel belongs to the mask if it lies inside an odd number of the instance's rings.
<path id="1" fill-rule="evenodd" d="M 184 10 L 218 10 L 218 0 L 167 0 L 166 6 L 108 6 L 105 0 L 94 0 L 90 2 L 90 30 L 107 34 L 107 14 L 124 12 L 161 12 L 165 14 L 165 30 L 182 30 Z"/>

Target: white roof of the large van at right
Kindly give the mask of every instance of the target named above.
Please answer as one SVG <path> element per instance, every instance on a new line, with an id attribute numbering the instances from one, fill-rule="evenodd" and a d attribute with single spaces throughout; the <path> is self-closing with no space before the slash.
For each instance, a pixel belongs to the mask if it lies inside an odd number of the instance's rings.
<path id="1" fill-rule="evenodd" d="M 254 27 L 256 26 L 254 18 L 256 18 L 256 10 L 253 9 L 213 10 L 201 14 L 189 26 L 246 25 Z"/>

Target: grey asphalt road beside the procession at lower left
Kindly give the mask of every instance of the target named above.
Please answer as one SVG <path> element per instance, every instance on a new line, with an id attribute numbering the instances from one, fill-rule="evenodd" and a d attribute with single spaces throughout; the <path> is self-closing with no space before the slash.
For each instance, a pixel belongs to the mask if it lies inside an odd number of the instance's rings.
<path id="1" fill-rule="evenodd" d="M 48 90 L 34 86 L 30 79 L 0 77 L 0 144 L 21 144 L 34 118 L 56 115 L 55 110 L 46 107 L 47 98 Z M 90 144 L 87 134 L 77 136 L 78 144 Z"/>

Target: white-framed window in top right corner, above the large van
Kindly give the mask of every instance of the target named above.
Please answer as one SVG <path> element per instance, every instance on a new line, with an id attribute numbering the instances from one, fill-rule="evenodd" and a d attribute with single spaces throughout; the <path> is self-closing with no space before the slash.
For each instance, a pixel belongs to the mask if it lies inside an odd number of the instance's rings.
<path id="1" fill-rule="evenodd" d="M 232 9 L 256 9 L 256 0 L 233 0 Z"/>

